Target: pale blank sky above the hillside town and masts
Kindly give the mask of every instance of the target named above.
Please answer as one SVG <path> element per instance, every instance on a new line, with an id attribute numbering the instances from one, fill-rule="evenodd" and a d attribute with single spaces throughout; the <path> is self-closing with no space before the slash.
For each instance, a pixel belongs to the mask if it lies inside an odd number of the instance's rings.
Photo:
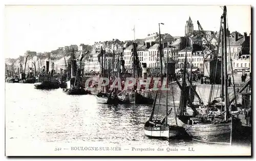
<path id="1" fill-rule="evenodd" d="M 47 52 L 71 44 L 145 38 L 159 32 L 184 36 L 189 16 L 198 30 L 219 31 L 220 6 L 6 6 L 5 58 L 27 50 Z M 251 31 L 250 6 L 227 6 L 229 31 Z"/>

